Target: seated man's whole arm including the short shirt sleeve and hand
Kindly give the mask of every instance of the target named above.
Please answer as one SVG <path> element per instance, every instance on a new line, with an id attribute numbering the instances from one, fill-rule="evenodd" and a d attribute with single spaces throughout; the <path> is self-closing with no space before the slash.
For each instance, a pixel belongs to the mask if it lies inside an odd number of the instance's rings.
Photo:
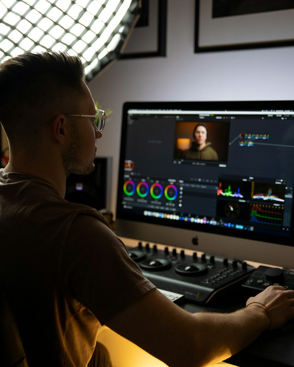
<path id="1" fill-rule="evenodd" d="M 101 323 L 170 367 L 226 359 L 269 326 L 268 312 L 259 304 L 231 314 L 191 314 L 150 290 L 121 241 L 89 215 L 79 215 L 72 224 L 62 272 L 65 288 Z M 268 308 L 272 328 L 294 317 L 294 291 L 283 287 L 268 287 L 251 302 Z"/>

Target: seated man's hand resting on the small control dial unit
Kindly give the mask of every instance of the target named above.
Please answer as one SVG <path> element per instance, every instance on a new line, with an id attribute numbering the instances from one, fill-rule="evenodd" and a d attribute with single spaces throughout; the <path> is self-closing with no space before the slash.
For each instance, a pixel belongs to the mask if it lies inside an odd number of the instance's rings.
<path id="1" fill-rule="evenodd" d="M 248 308 L 265 306 L 265 313 L 267 309 L 271 315 L 272 322 L 269 326 L 271 330 L 294 319 L 294 290 L 285 290 L 282 286 L 269 286 L 255 297 L 250 297 L 246 305 L 249 305 Z"/>

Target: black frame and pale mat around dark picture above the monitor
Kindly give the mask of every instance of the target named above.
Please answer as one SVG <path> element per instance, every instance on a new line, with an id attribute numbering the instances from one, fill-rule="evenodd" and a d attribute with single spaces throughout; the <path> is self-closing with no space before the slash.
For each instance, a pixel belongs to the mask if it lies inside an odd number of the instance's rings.
<path id="1" fill-rule="evenodd" d="M 195 53 L 294 46 L 294 9 L 212 18 L 212 6 L 195 2 Z"/>

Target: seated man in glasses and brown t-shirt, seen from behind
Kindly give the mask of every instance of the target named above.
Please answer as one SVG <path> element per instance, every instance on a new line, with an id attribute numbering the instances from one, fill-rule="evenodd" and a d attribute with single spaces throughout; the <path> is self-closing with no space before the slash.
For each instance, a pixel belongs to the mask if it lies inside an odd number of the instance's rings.
<path id="1" fill-rule="evenodd" d="M 0 277 L 30 367 L 86 367 L 101 324 L 168 366 L 205 366 L 294 317 L 294 291 L 279 286 L 232 314 L 187 313 L 142 275 L 100 213 L 63 199 L 69 173 L 93 170 L 103 129 L 78 57 L 9 59 L 0 93 L 10 147 L 0 171 Z"/>

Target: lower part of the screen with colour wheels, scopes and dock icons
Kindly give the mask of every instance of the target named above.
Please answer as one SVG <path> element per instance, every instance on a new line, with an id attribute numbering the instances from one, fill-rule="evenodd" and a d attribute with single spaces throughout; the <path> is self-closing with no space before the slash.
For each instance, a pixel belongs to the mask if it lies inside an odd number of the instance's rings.
<path id="1" fill-rule="evenodd" d="M 275 233 L 289 231 L 290 201 L 285 199 L 292 197 L 292 190 L 278 178 L 219 175 L 212 183 L 194 183 L 125 174 L 122 203 L 125 210 L 148 217 Z"/>

